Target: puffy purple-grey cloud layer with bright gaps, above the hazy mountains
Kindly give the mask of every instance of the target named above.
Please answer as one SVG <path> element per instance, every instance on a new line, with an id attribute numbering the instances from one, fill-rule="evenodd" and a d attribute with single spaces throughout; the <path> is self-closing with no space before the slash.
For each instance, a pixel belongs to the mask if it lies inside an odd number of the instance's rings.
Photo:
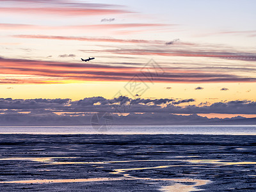
<path id="1" fill-rule="evenodd" d="M 256 102 L 250 100 L 232 100 L 214 102 L 213 104 L 193 104 L 195 99 L 131 99 L 120 96 L 114 99 L 88 97 L 81 100 L 71 99 L 0 99 L 0 112 L 74 112 L 94 113 L 109 111 L 111 113 L 223 113 L 256 114 Z M 180 105 L 182 104 L 182 106 Z M 118 110 L 117 110 L 118 109 Z M 125 110 L 124 110 L 125 109 Z"/>

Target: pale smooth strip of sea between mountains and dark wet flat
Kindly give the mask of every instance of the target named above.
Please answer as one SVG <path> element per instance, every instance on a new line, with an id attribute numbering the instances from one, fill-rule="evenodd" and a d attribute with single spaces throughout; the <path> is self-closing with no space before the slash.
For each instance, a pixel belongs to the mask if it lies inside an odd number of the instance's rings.
<path id="1" fill-rule="evenodd" d="M 256 125 L 113 125 L 0 127 L 0 134 L 226 134 L 256 135 Z"/>

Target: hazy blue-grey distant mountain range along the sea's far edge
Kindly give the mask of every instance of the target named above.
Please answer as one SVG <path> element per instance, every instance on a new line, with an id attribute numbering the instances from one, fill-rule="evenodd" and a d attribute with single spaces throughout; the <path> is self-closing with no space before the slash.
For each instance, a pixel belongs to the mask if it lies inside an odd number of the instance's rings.
<path id="1" fill-rule="evenodd" d="M 94 114 L 95 115 L 95 114 Z M 31 125 L 91 125 L 93 114 L 6 113 L 0 115 L 0 126 Z M 108 114 L 113 125 L 256 125 L 256 118 L 207 118 L 198 115 L 168 115 L 166 113 Z M 98 118 L 98 117 L 97 117 Z M 108 120 L 108 119 L 107 119 Z M 99 124 L 106 118 L 99 116 Z"/>

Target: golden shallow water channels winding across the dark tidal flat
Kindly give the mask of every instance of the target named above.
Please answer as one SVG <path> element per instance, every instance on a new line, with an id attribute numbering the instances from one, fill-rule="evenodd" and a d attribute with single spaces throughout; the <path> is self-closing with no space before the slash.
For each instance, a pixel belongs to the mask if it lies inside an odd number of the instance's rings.
<path id="1" fill-rule="evenodd" d="M 181 156 L 176 156 L 176 158 Z M 192 157 L 192 156 L 191 156 Z M 194 156 L 195 157 L 195 156 Z M 104 168 L 104 164 L 111 163 L 120 163 L 120 169 L 115 169 L 112 174 L 120 174 L 120 177 L 114 178 L 91 178 L 91 179 L 41 179 L 41 180 L 12 180 L 12 181 L 2 181 L 0 183 L 23 183 L 23 184 L 45 184 L 45 183 L 57 183 L 57 182 L 102 182 L 102 181 L 111 181 L 111 180 L 150 180 L 158 182 L 161 185 L 161 191 L 198 191 L 196 187 L 203 186 L 210 180 L 200 180 L 200 179 L 161 179 L 161 178 L 142 178 L 134 177 L 130 175 L 129 171 L 133 170 L 154 170 L 161 168 L 169 168 L 175 166 L 205 166 L 207 164 L 212 164 L 212 166 L 228 166 L 236 165 L 242 166 L 244 164 L 256 164 L 256 162 L 250 161 L 241 161 L 241 162 L 230 162 L 224 159 L 146 159 L 146 160 L 131 160 L 131 161 L 99 161 L 99 162 L 72 162 L 72 161 L 60 161 L 61 159 L 74 159 L 76 157 L 8 157 L 0 158 L 0 161 L 36 161 L 40 163 L 45 163 L 48 165 L 53 164 L 92 164 L 96 168 Z M 58 161 L 56 161 L 58 159 Z M 134 162 L 175 162 L 178 164 L 168 164 L 168 165 L 159 165 L 152 167 L 137 167 L 137 168 L 122 168 L 122 163 L 134 163 Z M 180 164 L 180 163 L 183 164 Z M 186 164 L 184 164 L 186 163 Z M 100 164 L 100 166 L 99 166 Z M 190 175 L 191 176 L 191 175 Z M 255 175 L 250 175 L 255 177 Z"/>

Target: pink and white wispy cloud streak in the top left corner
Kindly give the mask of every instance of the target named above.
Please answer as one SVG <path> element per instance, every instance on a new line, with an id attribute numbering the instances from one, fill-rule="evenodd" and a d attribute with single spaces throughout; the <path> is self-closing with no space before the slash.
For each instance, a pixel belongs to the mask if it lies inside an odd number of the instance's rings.
<path id="1" fill-rule="evenodd" d="M 131 13 L 120 9 L 115 4 L 83 3 L 76 1 L 5 1 L 6 6 L 0 7 L 0 12 L 47 15 L 108 15 Z"/>

